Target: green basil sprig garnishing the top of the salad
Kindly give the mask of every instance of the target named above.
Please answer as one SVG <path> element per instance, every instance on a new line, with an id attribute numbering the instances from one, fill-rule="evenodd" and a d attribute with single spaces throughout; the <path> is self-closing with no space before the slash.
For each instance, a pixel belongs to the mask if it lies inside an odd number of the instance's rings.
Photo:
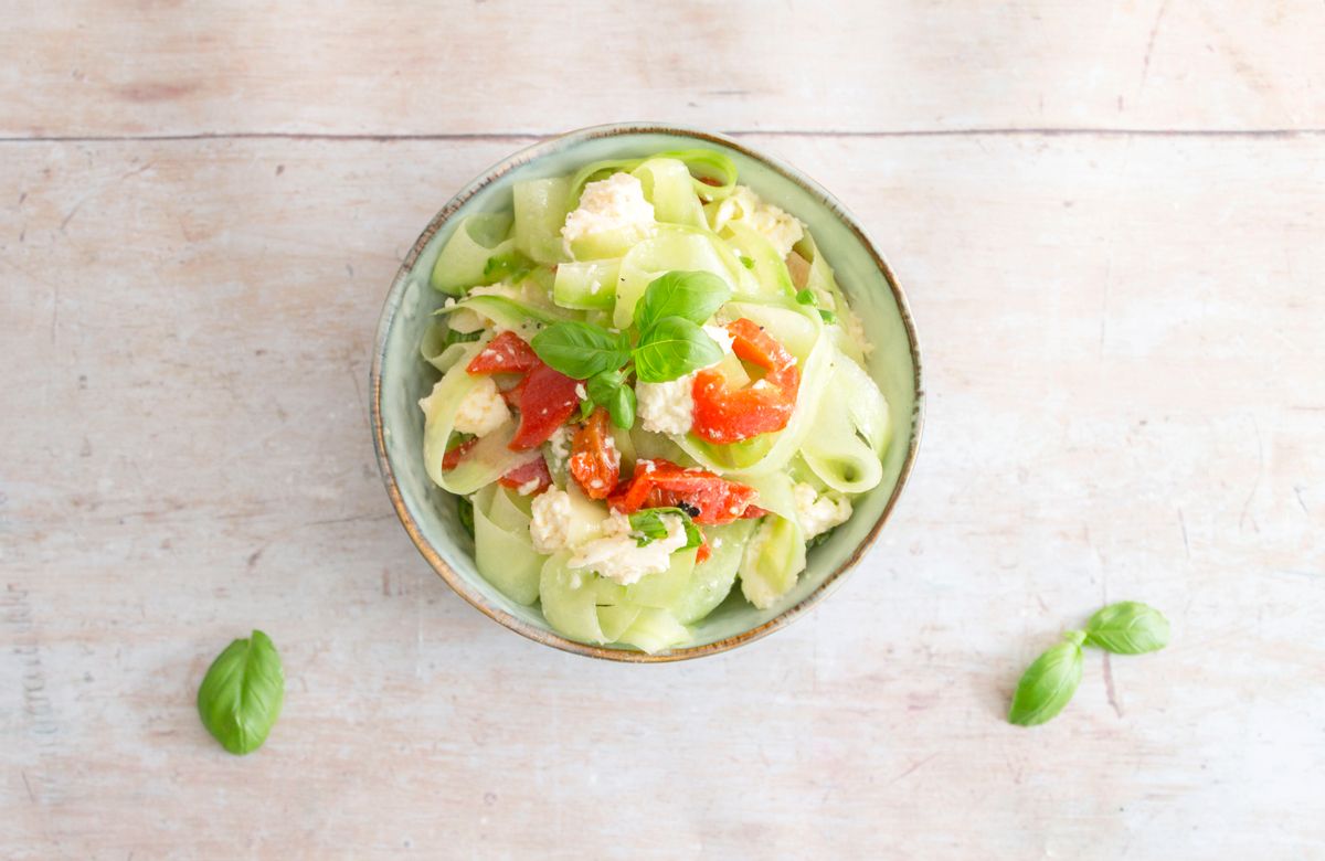
<path id="1" fill-rule="evenodd" d="M 631 371 L 643 383 L 666 383 L 722 359 L 722 348 L 701 326 L 730 298 L 731 287 L 713 273 L 669 272 L 649 282 L 636 302 L 633 343 L 627 331 L 566 321 L 534 335 L 531 346 L 553 370 L 586 381 L 582 416 L 600 405 L 616 427 L 629 429 Z"/>

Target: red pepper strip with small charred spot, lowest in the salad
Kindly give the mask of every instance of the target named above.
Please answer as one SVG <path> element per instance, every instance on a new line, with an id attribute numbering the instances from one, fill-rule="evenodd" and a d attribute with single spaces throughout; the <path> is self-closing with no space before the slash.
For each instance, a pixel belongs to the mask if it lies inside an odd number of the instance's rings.
<path id="1" fill-rule="evenodd" d="M 747 485 L 738 485 L 702 469 L 684 469 L 670 461 L 635 464 L 631 481 L 616 487 L 607 505 L 633 514 L 640 509 L 676 506 L 696 523 L 730 523 L 745 515 L 758 497 Z"/>

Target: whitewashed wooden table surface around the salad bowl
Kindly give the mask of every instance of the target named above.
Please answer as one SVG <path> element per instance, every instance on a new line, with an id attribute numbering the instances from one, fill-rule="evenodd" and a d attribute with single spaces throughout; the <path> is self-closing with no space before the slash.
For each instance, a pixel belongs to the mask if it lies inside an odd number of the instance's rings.
<path id="1" fill-rule="evenodd" d="M 1318 1 L 17 0 L 0 57 L 0 856 L 1325 857 Z M 456 597 L 367 423 L 432 213 L 623 119 L 839 195 L 928 372 L 851 582 L 668 666 Z M 1170 648 L 1008 726 L 1121 599 Z"/>

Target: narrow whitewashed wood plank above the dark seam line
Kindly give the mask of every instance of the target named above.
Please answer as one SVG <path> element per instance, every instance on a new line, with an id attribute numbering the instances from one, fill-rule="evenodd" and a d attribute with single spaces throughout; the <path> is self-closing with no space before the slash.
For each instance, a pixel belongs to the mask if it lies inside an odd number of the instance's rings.
<path id="1" fill-rule="evenodd" d="M 9 136 L 1325 128 L 1310 0 L 19 5 Z"/>

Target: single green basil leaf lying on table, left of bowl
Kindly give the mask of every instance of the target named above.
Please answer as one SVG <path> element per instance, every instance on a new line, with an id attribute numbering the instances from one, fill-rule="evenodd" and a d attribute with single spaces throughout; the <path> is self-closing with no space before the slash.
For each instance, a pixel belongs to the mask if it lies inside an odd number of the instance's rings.
<path id="1" fill-rule="evenodd" d="M 212 661 L 197 689 L 197 714 L 221 747 L 242 755 L 262 746 L 284 701 L 281 656 L 270 637 L 254 631 Z"/>

